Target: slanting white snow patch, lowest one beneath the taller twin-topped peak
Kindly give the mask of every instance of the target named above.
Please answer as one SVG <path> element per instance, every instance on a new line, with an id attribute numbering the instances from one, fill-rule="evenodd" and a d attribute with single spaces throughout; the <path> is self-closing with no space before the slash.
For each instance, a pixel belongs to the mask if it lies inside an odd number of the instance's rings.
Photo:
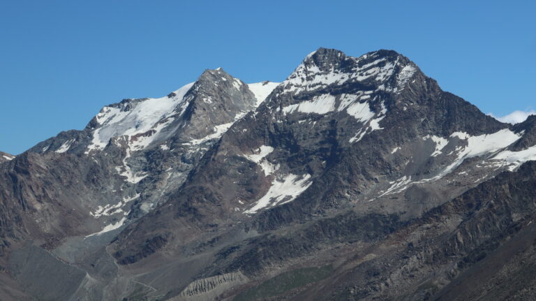
<path id="1" fill-rule="evenodd" d="M 294 200 L 311 186 L 312 182 L 309 179 L 311 179 L 311 175 L 309 174 L 302 176 L 301 179 L 299 176 L 292 174 L 287 175 L 281 180 L 274 179 L 265 196 L 262 196 L 262 198 L 255 202 L 253 207 L 244 211 L 244 213 L 254 214 L 261 209 L 274 207 Z"/>

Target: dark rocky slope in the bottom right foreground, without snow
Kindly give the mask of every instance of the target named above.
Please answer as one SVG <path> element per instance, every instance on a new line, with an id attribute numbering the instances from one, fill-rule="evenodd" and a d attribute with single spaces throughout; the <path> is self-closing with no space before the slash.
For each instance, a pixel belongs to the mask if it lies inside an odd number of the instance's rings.
<path id="1" fill-rule="evenodd" d="M 535 278 L 525 264 L 534 254 L 535 208 L 529 191 L 535 188 L 535 168 L 534 162 L 526 163 L 430 210 L 347 260 L 337 277 L 319 284 L 328 291 L 313 288 L 290 300 L 533 296 L 525 288 Z M 373 259 L 364 260 L 369 254 Z"/>

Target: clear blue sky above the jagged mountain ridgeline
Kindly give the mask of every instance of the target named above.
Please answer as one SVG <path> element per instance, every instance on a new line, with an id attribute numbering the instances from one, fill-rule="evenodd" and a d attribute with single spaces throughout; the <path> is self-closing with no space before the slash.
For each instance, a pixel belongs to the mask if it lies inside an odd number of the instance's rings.
<path id="1" fill-rule="evenodd" d="M 536 107 L 535 1 L 0 0 L 0 150 L 83 129 L 205 68 L 281 81 L 306 54 L 393 49 L 502 116 Z"/>

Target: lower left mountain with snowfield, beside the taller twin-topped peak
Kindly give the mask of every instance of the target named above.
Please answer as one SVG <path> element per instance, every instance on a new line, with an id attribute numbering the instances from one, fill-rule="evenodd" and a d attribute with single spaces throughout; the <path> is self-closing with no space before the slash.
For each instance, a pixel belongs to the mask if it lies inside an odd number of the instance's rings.
<path id="1" fill-rule="evenodd" d="M 256 108 L 257 96 L 266 93 L 262 89 L 274 85 L 253 84 L 254 94 L 222 69 L 207 70 L 195 83 L 163 98 L 107 105 L 83 131 L 62 132 L 22 154 L 15 168 L 24 169 L 27 179 L 15 182 L 38 189 L 14 192 L 28 192 L 31 196 L 24 197 L 24 202 L 35 199 L 43 203 L 39 207 L 52 206 L 47 208 L 51 217 L 45 223 L 63 221 L 62 210 L 77 212 L 80 229 L 70 225 L 47 230 L 47 235 L 54 235 L 47 244 L 61 240 L 65 228 L 76 231 L 68 235 L 118 228 L 148 212 L 166 191 L 176 189 L 221 133 Z M 218 102 L 213 103 L 213 98 Z"/>

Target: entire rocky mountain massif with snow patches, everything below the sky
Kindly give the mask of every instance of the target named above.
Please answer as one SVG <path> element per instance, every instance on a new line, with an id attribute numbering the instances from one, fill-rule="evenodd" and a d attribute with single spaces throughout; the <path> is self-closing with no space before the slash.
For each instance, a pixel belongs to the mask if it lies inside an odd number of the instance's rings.
<path id="1" fill-rule="evenodd" d="M 390 50 L 320 48 L 281 84 L 207 70 L 0 163 L 4 282 L 49 300 L 527 300 L 535 122 L 502 124 Z"/>

